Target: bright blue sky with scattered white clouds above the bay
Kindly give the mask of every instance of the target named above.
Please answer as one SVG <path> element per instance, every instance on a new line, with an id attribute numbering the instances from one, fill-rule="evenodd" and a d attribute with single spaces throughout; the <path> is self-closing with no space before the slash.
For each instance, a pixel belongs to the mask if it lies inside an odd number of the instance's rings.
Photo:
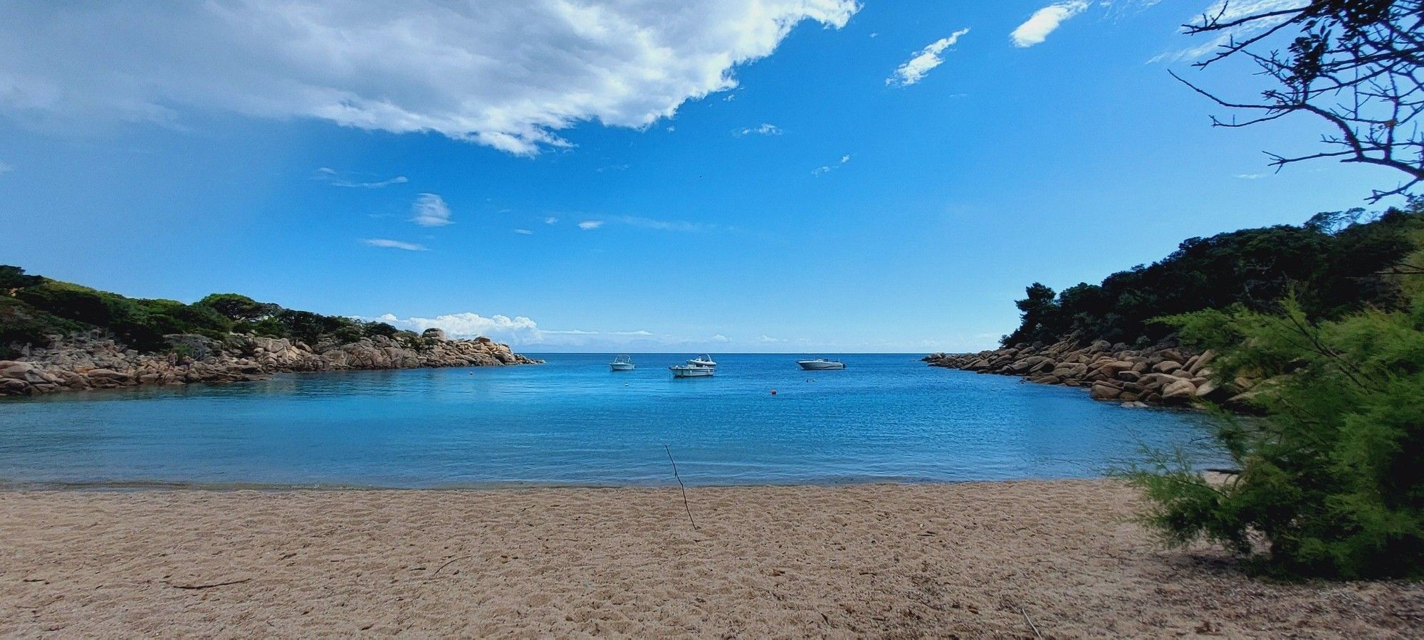
<path id="1" fill-rule="evenodd" d="M 1230 10 L 1293 4 L 1242 0 Z M 1364 206 L 1212 0 L 0 0 L 0 263 L 541 351 L 970 351 Z M 1388 202 L 1387 202 L 1388 203 Z"/>

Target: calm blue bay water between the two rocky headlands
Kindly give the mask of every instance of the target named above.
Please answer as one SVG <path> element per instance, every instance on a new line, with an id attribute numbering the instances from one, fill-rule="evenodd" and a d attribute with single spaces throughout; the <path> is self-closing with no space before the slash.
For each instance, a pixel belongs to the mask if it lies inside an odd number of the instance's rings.
<path id="1" fill-rule="evenodd" d="M 547 364 L 289 374 L 271 381 L 0 401 L 3 484 L 468 486 L 1075 478 L 1183 445 L 1198 414 L 928 368 L 914 356 L 551 354 Z M 770 390 L 776 390 L 773 397 Z"/>

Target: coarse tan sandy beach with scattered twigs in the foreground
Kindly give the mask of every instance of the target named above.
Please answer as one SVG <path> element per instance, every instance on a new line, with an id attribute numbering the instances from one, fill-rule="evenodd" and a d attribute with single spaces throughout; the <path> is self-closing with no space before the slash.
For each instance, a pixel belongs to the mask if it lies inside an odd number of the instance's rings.
<path id="1" fill-rule="evenodd" d="M 1420 637 L 1161 550 L 1112 481 L 0 492 L 0 636 Z"/>

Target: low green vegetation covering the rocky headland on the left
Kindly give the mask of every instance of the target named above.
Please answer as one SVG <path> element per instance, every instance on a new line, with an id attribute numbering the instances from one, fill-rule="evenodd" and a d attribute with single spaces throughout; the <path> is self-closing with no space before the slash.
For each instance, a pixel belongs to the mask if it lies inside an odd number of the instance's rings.
<path id="1" fill-rule="evenodd" d="M 419 340 L 386 323 L 323 316 L 259 303 L 236 293 L 214 293 L 192 304 L 132 299 L 85 286 L 24 273 L 0 265 L 0 360 L 50 336 L 100 330 L 140 353 L 175 347 L 165 336 L 199 334 L 225 340 L 234 333 L 318 344 L 350 343 L 376 336 Z"/>

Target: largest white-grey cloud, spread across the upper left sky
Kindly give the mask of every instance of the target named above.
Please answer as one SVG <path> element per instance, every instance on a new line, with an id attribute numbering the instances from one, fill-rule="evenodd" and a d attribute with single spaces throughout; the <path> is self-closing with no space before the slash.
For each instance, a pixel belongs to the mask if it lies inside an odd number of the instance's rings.
<path id="1" fill-rule="evenodd" d="M 185 111 L 433 131 L 531 155 L 582 121 L 642 128 L 736 87 L 856 0 L 6 3 L 0 110 L 48 121 Z"/>

